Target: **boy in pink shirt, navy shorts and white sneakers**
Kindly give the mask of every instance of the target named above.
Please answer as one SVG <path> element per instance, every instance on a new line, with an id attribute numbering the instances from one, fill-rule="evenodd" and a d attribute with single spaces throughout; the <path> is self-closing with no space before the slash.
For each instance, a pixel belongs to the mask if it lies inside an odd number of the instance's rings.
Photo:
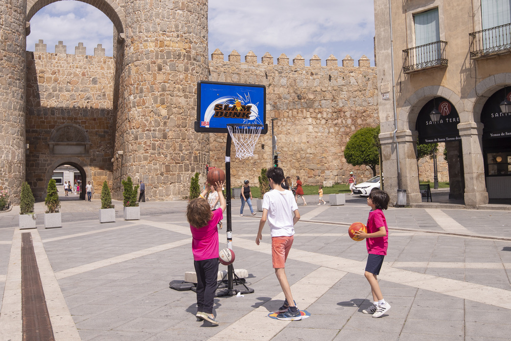
<path id="1" fill-rule="evenodd" d="M 388 226 L 383 210 L 387 209 L 389 200 L 390 198 L 386 192 L 379 189 L 371 191 L 367 198 L 367 206 L 371 207 L 369 218 L 367 218 L 367 233 L 363 231 L 355 232 L 361 238 L 366 238 L 365 242 L 369 256 L 365 266 L 365 278 L 369 282 L 373 293 L 373 305 L 362 310 L 362 312 L 373 314 L 373 317 L 380 317 L 390 309 L 390 304 L 383 299 L 377 279 L 383 259 L 387 254 Z"/>

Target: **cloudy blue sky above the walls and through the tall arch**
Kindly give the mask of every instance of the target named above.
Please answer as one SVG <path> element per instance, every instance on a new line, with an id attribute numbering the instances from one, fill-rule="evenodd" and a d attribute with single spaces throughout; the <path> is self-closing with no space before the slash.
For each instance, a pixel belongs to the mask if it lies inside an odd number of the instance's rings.
<path id="1" fill-rule="evenodd" d="M 35 43 L 43 39 L 48 52 L 55 52 L 54 46 L 62 40 L 67 53 L 75 53 L 75 46 L 83 42 L 89 55 L 98 43 L 107 56 L 112 55 L 112 23 L 90 5 L 53 3 L 39 10 L 30 24 L 28 51 L 34 51 Z M 269 52 L 275 63 L 284 53 L 291 61 L 300 54 L 309 65 L 308 60 L 317 54 L 325 65 L 333 54 L 341 65 L 349 54 L 355 60 L 366 55 L 374 65 L 373 0 L 210 0 L 208 30 L 210 59 L 218 48 L 224 59 L 238 51 L 242 61 L 252 50 L 258 62 Z"/>

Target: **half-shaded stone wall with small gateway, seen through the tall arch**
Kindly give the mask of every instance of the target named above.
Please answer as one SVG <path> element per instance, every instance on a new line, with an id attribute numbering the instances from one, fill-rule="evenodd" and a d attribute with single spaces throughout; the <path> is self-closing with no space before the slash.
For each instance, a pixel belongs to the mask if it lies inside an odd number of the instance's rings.
<path id="1" fill-rule="evenodd" d="M 103 181 L 112 181 L 113 59 L 47 53 L 40 44 L 41 52 L 26 54 L 27 181 L 34 196 L 43 198 L 53 170 L 70 164 L 82 170 L 82 180 L 91 181 L 99 198 Z"/>

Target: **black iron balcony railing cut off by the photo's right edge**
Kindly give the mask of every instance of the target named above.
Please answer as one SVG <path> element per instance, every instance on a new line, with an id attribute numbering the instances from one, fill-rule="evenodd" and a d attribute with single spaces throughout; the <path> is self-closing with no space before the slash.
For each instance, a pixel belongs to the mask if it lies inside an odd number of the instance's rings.
<path id="1" fill-rule="evenodd" d="M 511 24 L 469 33 L 470 58 L 511 52 Z"/>

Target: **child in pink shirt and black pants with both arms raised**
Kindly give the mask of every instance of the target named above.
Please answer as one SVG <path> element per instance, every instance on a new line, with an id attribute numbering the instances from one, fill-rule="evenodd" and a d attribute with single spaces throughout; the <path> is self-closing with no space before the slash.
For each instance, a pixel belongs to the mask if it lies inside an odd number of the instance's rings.
<path id="1" fill-rule="evenodd" d="M 215 184 L 220 199 L 220 210 L 211 211 L 205 199 L 207 186 L 200 197 L 190 200 L 187 207 L 187 220 L 192 232 L 192 252 L 197 274 L 197 321 L 207 321 L 218 326 L 213 315 L 213 299 L 217 289 L 218 277 L 218 229 L 217 224 L 223 218 L 226 203 L 222 193 L 222 182 Z"/>

